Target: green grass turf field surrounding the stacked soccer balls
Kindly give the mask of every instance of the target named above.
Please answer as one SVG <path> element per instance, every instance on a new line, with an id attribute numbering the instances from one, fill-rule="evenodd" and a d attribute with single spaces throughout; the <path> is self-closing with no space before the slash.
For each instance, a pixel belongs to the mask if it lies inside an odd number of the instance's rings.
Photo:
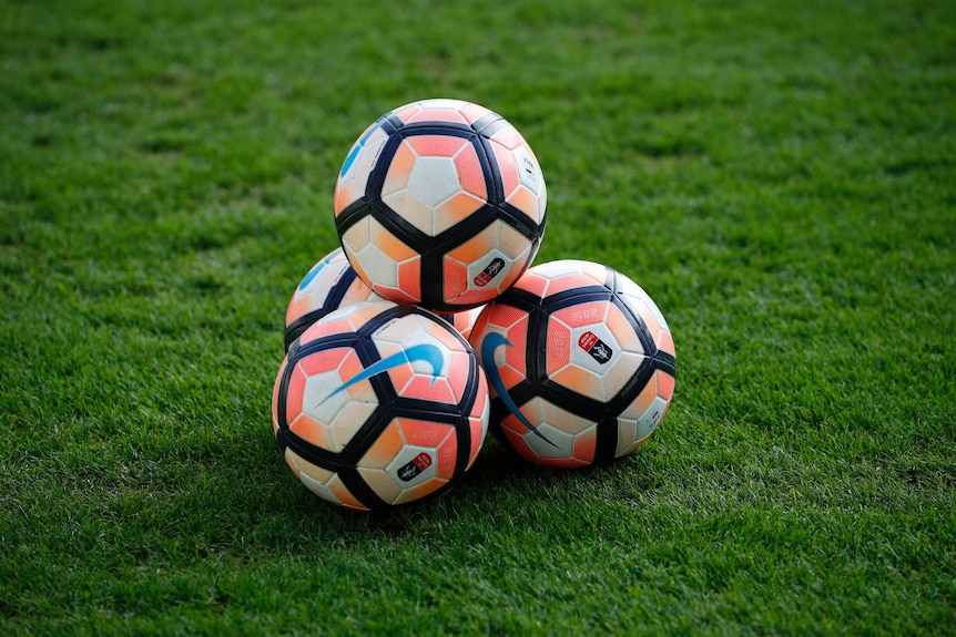
<path id="1" fill-rule="evenodd" d="M 638 281 L 621 462 L 350 514 L 275 450 L 352 142 L 507 117 Z M 956 4 L 0 0 L 0 634 L 956 633 Z"/>

